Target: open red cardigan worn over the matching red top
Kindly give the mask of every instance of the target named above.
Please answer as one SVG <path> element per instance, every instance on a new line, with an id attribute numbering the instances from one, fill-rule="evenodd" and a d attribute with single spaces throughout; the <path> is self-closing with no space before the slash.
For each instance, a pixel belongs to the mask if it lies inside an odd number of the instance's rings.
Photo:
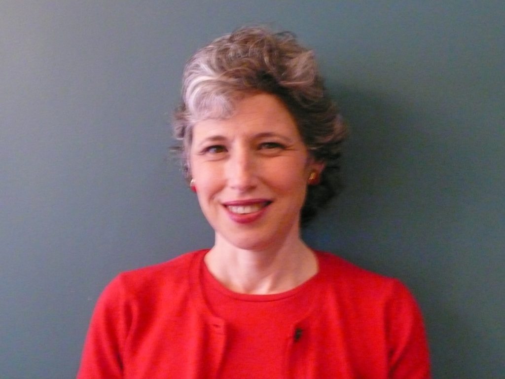
<path id="1" fill-rule="evenodd" d="M 96 304 L 77 378 L 222 377 L 233 355 L 232 325 L 206 299 L 206 252 L 116 277 Z M 268 379 L 430 378 L 423 322 L 409 291 L 329 253 L 317 257 L 307 310 L 287 328 L 284 349 L 272 352 L 284 372 Z"/>

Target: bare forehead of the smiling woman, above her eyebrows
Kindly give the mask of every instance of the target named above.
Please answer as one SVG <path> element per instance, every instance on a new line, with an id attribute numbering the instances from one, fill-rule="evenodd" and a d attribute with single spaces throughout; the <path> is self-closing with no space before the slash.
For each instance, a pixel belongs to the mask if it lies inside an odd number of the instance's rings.
<path id="1" fill-rule="evenodd" d="M 276 96 L 259 93 L 245 97 L 235 104 L 230 117 L 198 121 L 193 127 L 193 139 L 219 133 L 223 135 L 281 133 L 299 138 L 293 116 Z"/>

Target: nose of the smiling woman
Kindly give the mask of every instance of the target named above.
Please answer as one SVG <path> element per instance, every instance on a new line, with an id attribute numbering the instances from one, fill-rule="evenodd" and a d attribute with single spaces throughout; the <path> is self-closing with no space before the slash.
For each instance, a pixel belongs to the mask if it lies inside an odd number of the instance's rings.
<path id="1" fill-rule="evenodd" d="M 256 185 L 257 162 L 254 152 L 244 147 L 233 149 L 228 157 L 226 176 L 228 185 L 240 192 L 246 192 Z"/>

